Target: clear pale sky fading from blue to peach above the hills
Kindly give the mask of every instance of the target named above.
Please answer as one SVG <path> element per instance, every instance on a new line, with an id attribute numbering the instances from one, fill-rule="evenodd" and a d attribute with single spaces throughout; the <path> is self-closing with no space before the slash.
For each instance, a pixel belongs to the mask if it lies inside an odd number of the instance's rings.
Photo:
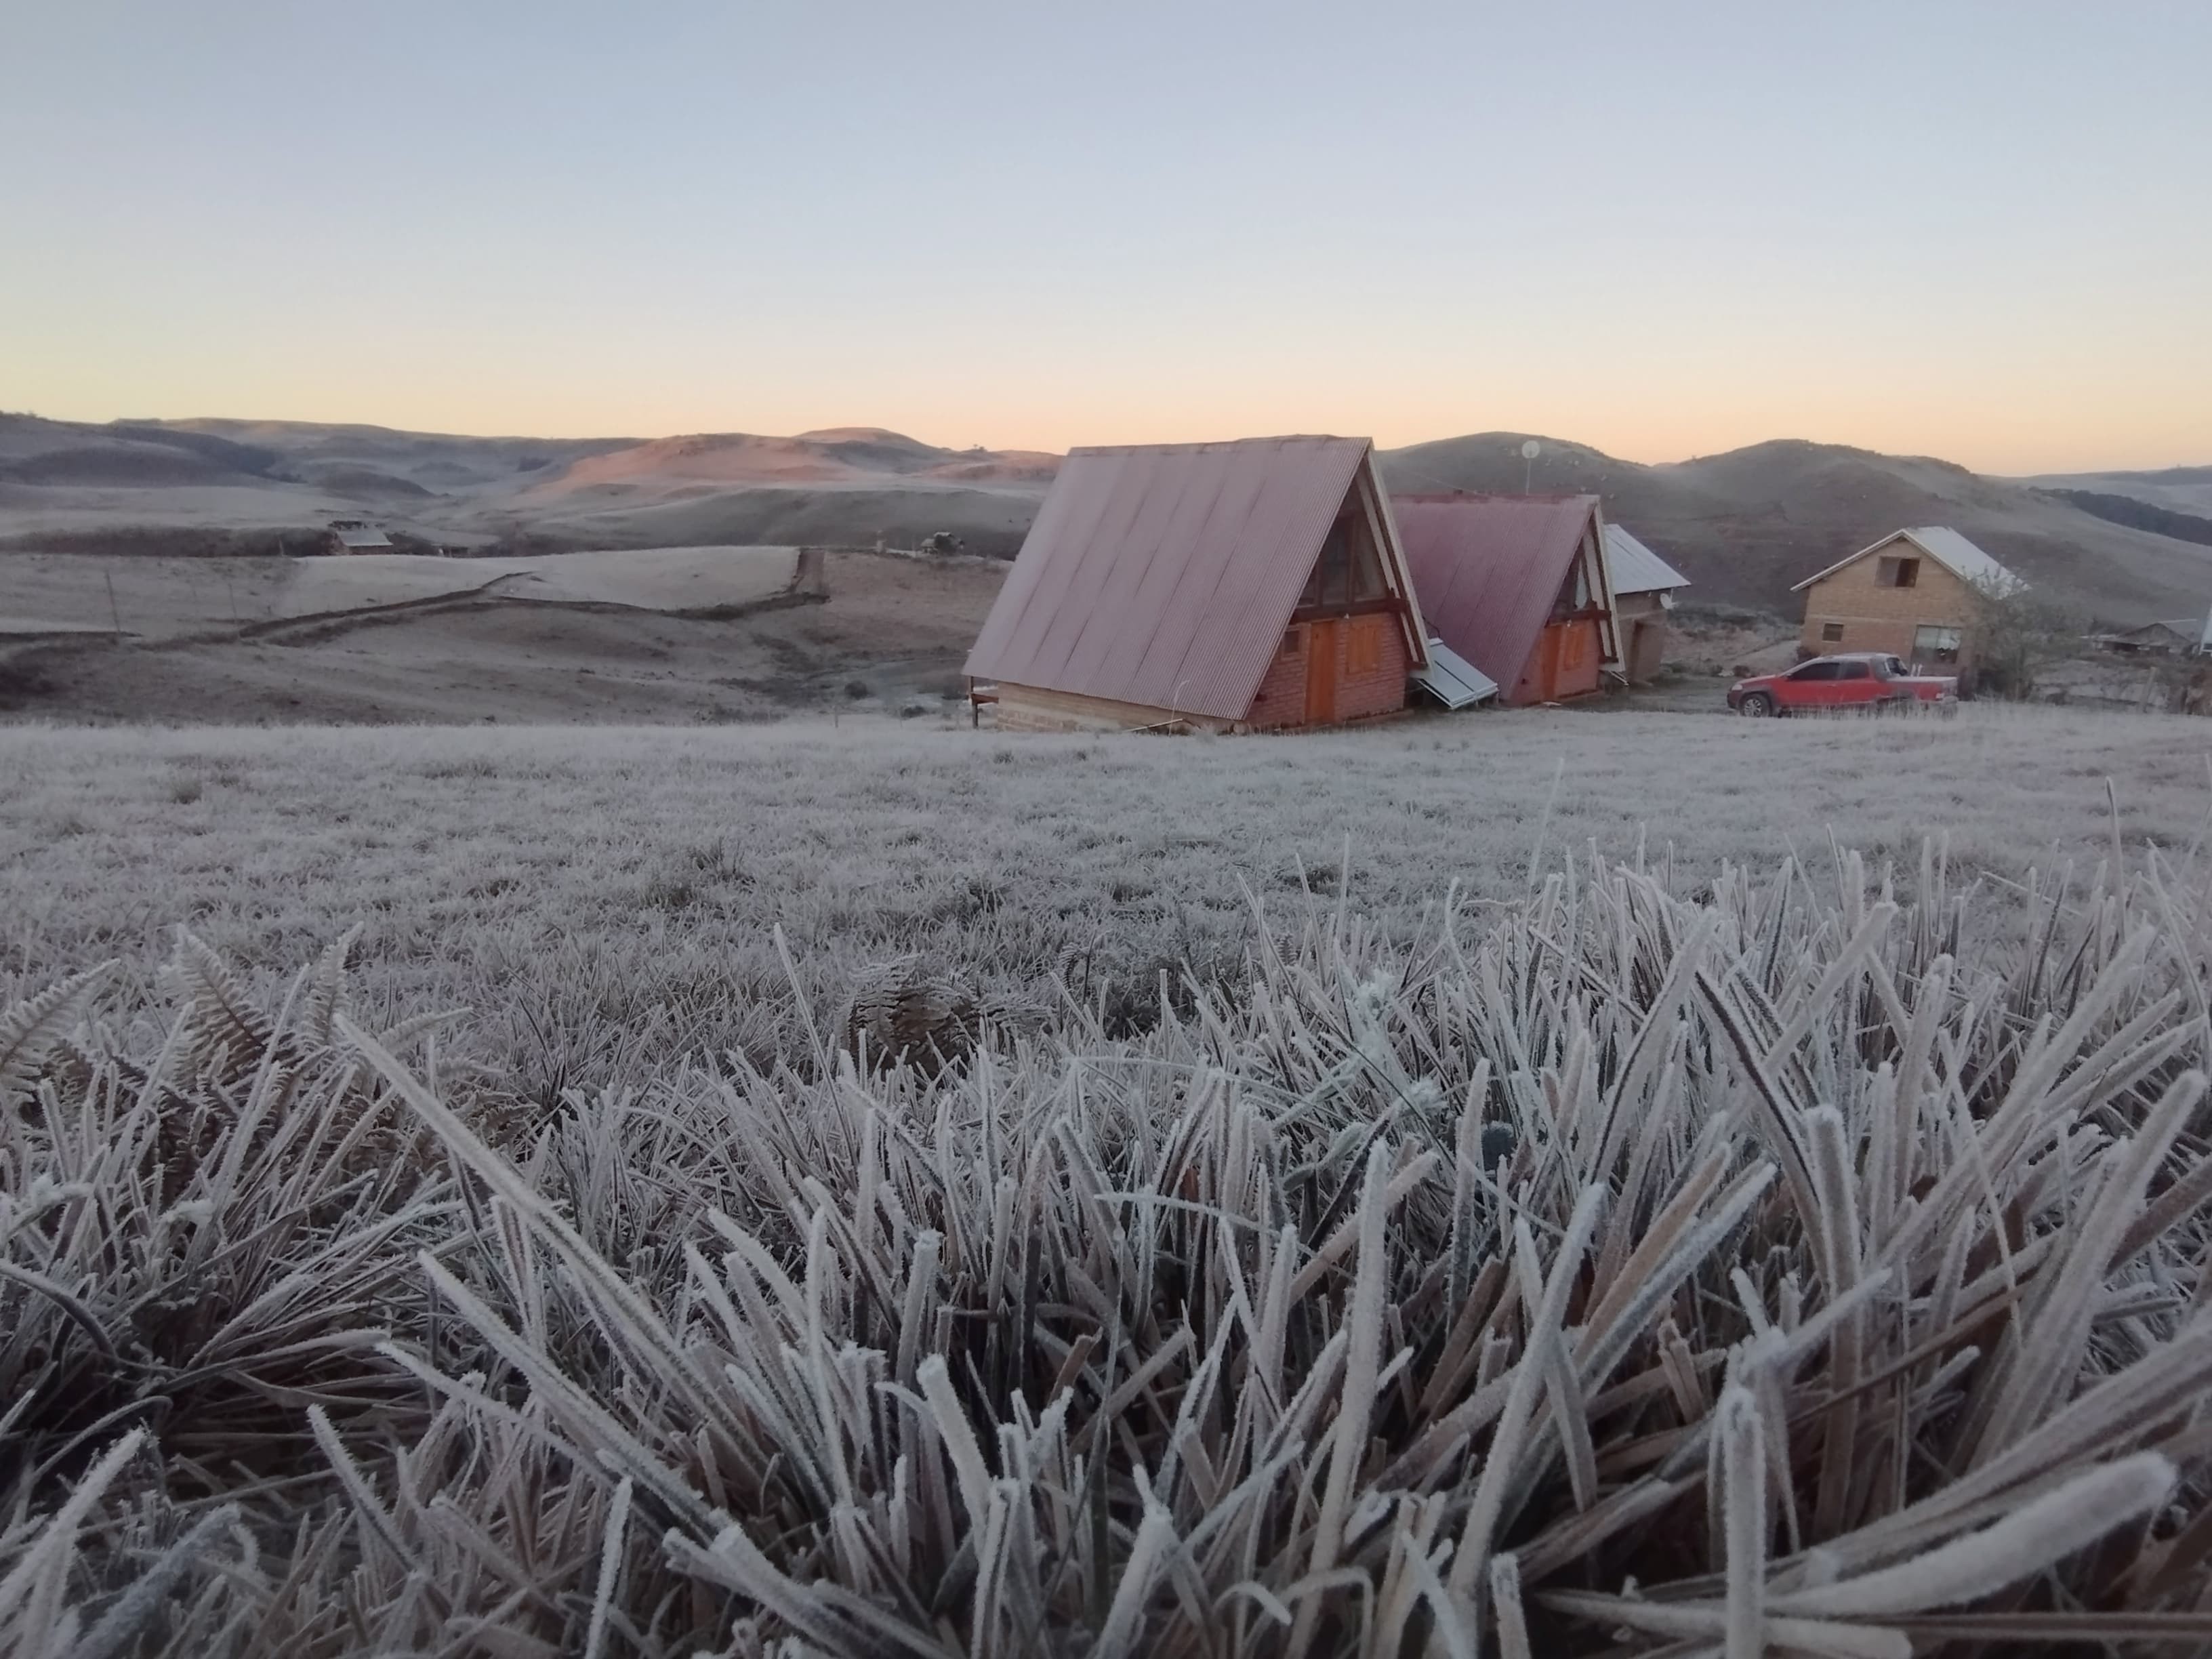
<path id="1" fill-rule="evenodd" d="M 0 409 L 2205 465 L 2208 64 L 2205 0 L 0 0 Z"/>

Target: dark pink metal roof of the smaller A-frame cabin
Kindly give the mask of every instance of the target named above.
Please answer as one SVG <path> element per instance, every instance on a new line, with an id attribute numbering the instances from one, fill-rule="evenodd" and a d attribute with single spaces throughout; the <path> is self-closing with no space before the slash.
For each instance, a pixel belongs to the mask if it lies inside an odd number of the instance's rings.
<path id="1" fill-rule="evenodd" d="M 1391 495 L 1429 633 L 1511 697 L 1597 495 Z"/>

